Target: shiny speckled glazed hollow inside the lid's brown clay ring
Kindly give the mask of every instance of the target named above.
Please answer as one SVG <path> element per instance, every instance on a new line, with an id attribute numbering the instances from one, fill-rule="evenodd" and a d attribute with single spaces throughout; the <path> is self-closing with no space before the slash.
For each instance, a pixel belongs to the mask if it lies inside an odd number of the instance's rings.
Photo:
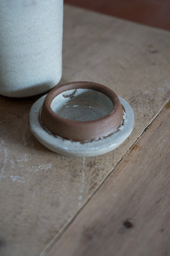
<path id="1" fill-rule="evenodd" d="M 60 117 L 74 121 L 100 119 L 114 108 L 110 98 L 93 89 L 64 91 L 52 100 L 50 107 Z"/>

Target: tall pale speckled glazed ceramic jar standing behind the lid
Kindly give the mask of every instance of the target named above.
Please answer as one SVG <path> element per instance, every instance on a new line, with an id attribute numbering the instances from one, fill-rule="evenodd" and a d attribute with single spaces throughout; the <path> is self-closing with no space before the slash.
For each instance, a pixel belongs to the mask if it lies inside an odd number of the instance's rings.
<path id="1" fill-rule="evenodd" d="M 29 97 L 62 77 L 63 0 L 0 0 L 0 94 Z"/>

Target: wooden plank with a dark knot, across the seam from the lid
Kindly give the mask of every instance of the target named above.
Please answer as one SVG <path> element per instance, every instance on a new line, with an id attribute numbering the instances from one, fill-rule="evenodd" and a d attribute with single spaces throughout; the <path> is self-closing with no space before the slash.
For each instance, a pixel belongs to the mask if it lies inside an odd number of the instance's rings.
<path id="1" fill-rule="evenodd" d="M 169 127 L 164 108 L 48 256 L 169 255 Z"/>

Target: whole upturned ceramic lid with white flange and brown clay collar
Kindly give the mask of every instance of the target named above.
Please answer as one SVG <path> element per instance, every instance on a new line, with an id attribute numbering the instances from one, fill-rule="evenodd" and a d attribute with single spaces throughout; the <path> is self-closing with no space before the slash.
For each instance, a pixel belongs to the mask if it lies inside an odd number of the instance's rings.
<path id="1" fill-rule="evenodd" d="M 69 82 L 33 104 L 29 125 L 40 143 L 58 154 L 94 157 L 125 141 L 134 127 L 134 112 L 104 85 Z"/>

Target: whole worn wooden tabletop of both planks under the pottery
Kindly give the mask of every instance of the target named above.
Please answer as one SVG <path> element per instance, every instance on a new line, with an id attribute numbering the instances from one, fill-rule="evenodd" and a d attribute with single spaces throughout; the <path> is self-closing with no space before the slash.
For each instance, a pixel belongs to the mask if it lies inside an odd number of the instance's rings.
<path id="1" fill-rule="evenodd" d="M 135 114 L 130 137 L 99 157 L 43 147 L 38 97 L 0 98 L 0 255 L 167 255 L 170 34 L 65 6 L 63 78 L 107 85 Z"/>

